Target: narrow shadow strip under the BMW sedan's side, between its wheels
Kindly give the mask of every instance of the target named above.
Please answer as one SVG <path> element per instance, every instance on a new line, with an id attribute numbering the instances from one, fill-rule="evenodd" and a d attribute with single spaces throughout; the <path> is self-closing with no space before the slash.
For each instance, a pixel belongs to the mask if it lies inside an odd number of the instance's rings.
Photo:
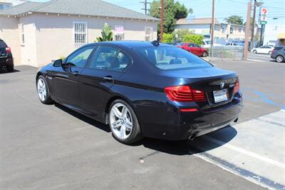
<path id="1" fill-rule="evenodd" d="M 54 106 L 56 106 L 58 109 L 61 109 L 62 111 L 65 111 L 65 112 L 68 113 L 68 114 L 71 114 L 71 116 L 74 116 L 74 117 L 76 117 L 77 119 L 80 119 L 81 121 L 86 122 L 87 124 L 90 124 L 90 125 L 92 125 L 92 126 L 98 128 L 98 129 L 101 129 L 101 130 L 106 131 L 106 132 L 108 132 L 108 133 L 111 132 L 110 127 L 107 126 L 107 125 L 105 125 L 105 124 L 102 124 L 102 123 L 100 123 L 100 122 L 98 122 L 98 121 L 95 121 L 94 119 L 90 119 L 90 118 L 87 117 L 87 116 L 84 116 L 84 115 L 82 115 L 82 114 L 79 114 L 79 113 L 77 113 L 76 111 L 73 111 L 72 109 L 68 109 L 68 108 L 66 108 L 65 106 L 62 106 L 61 104 L 57 104 L 57 103 L 56 103 L 56 104 L 54 104 Z"/>

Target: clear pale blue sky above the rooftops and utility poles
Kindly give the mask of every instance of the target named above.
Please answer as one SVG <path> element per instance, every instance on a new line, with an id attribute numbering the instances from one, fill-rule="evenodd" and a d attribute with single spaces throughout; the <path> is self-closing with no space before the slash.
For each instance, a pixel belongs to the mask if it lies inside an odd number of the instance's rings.
<path id="1" fill-rule="evenodd" d="M 33 0 L 47 1 L 47 0 Z M 81 0 L 78 0 L 81 1 Z M 143 4 L 145 0 L 103 0 L 112 4 L 123 6 L 127 9 L 132 9 L 144 13 Z M 147 0 L 151 2 L 152 0 Z M 185 6 L 193 9 L 192 16 L 195 18 L 210 18 L 212 16 L 212 0 L 175 0 L 185 4 Z M 244 21 L 247 16 L 247 2 L 249 0 L 215 0 L 215 18 L 220 22 L 224 22 L 224 18 L 231 15 L 242 16 Z M 252 0 L 254 1 L 254 0 Z M 263 6 L 268 8 L 268 24 L 285 24 L 285 0 L 258 0 L 264 2 Z M 253 11 L 252 11 L 253 12 Z M 259 9 L 257 9 L 257 18 Z M 273 19 L 278 18 L 278 19 Z"/>

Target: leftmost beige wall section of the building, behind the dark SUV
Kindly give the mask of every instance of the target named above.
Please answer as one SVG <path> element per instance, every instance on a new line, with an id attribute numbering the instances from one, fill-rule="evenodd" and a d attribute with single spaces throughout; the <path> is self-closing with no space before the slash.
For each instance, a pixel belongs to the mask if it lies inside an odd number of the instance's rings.
<path id="1" fill-rule="evenodd" d="M 18 18 L 0 16 L 0 39 L 3 39 L 11 48 L 15 65 L 21 64 L 20 35 L 18 25 Z"/>

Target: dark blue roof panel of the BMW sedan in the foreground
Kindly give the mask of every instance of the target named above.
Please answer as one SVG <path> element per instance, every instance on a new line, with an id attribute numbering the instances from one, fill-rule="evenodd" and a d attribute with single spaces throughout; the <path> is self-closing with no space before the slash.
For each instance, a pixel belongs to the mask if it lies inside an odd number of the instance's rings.
<path id="1" fill-rule="evenodd" d="M 113 46 L 124 46 L 130 49 L 137 49 L 141 47 L 153 47 L 154 45 L 152 44 L 151 41 L 135 41 L 135 40 L 125 40 L 125 41 L 103 41 L 103 42 L 96 42 L 92 44 L 87 44 L 88 45 L 113 45 Z M 170 46 L 168 44 L 162 44 L 160 43 L 159 46 Z"/>

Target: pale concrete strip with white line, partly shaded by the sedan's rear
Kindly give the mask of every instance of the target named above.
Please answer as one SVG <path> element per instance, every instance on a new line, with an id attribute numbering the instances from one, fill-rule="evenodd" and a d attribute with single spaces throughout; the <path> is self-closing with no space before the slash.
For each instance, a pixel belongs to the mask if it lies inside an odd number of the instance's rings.
<path id="1" fill-rule="evenodd" d="M 195 139 L 195 155 L 269 189 L 285 189 L 284 124 L 283 110 L 244 121 Z"/>

